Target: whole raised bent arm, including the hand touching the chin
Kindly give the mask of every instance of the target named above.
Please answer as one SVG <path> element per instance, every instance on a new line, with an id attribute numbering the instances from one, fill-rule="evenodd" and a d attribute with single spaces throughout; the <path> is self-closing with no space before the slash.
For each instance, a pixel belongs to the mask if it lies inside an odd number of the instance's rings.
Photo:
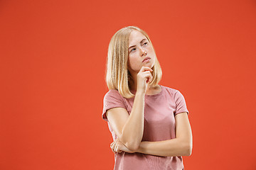
<path id="1" fill-rule="evenodd" d="M 150 72 L 153 72 L 153 69 L 142 67 L 136 75 L 137 92 L 134 96 L 130 115 L 125 108 L 112 108 L 106 113 L 114 133 L 132 151 L 137 150 L 140 142 L 142 142 L 144 132 L 144 99 L 146 89 L 153 79 Z"/>

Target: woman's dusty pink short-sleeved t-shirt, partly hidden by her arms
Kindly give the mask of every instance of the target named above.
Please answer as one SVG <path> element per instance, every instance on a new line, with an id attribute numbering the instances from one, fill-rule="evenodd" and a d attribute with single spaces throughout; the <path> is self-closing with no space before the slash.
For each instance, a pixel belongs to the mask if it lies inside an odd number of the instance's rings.
<path id="1" fill-rule="evenodd" d="M 160 85 L 161 86 L 161 85 Z M 132 91 L 133 94 L 136 91 Z M 126 108 L 130 114 L 134 98 L 124 98 L 117 90 L 110 89 L 104 96 L 102 118 L 107 121 L 113 140 L 117 138 L 106 117 L 110 108 Z M 145 95 L 144 134 L 142 141 L 161 141 L 176 138 L 175 118 L 187 112 L 186 102 L 180 91 L 161 86 L 161 92 Z M 182 170 L 182 157 L 160 157 L 142 153 L 120 152 L 114 154 L 114 170 Z"/>

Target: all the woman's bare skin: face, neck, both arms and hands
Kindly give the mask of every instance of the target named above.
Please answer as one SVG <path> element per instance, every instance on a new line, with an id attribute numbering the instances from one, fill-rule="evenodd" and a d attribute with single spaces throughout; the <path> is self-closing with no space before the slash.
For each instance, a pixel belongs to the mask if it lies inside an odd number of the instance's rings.
<path id="1" fill-rule="evenodd" d="M 145 40 L 144 40 L 145 39 Z M 187 113 L 178 113 L 176 120 L 176 138 L 159 142 L 142 142 L 144 130 L 144 96 L 158 94 L 161 87 L 148 86 L 152 80 L 151 68 L 154 66 L 156 54 L 146 37 L 137 30 L 129 36 L 128 69 L 134 80 L 132 89 L 137 91 L 134 105 L 129 115 L 125 108 L 111 108 L 107 111 L 117 139 L 111 143 L 113 152 L 140 152 L 162 157 L 189 156 L 192 151 L 192 132 Z M 151 57 L 149 62 L 142 62 L 145 57 Z"/>

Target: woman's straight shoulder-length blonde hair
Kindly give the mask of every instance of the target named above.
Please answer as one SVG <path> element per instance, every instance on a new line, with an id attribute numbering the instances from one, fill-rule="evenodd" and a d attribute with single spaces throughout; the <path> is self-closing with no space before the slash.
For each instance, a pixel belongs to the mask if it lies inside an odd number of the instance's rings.
<path id="1" fill-rule="evenodd" d="M 106 64 L 106 83 L 108 89 L 116 89 L 124 98 L 132 98 L 134 94 L 130 91 L 130 83 L 132 76 L 127 68 L 127 62 L 129 57 L 129 35 L 132 30 L 138 30 L 141 32 L 150 44 L 151 40 L 146 32 L 136 26 L 128 26 L 117 31 L 110 40 L 110 45 L 107 53 Z M 152 45 L 153 47 L 153 45 Z M 154 49 L 154 47 L 153 47 Z M 155 60 L 153 69 L 153 80 L 149 83 L 149 86 L 156 86 L 161 80 L 161 67 L 159 61 Z"/>

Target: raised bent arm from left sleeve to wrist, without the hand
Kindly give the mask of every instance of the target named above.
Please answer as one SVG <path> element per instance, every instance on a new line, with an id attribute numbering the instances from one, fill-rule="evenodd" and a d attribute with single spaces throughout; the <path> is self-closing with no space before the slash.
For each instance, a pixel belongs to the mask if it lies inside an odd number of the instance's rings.
<path id="1" fill-rule="evenodd" d="M 125 108 L 111 108 L 106 116 L 111 128 L 128 149 L 137 150 L 144 131 L 144 93 L 137 91 L 131 114 Z"/>

